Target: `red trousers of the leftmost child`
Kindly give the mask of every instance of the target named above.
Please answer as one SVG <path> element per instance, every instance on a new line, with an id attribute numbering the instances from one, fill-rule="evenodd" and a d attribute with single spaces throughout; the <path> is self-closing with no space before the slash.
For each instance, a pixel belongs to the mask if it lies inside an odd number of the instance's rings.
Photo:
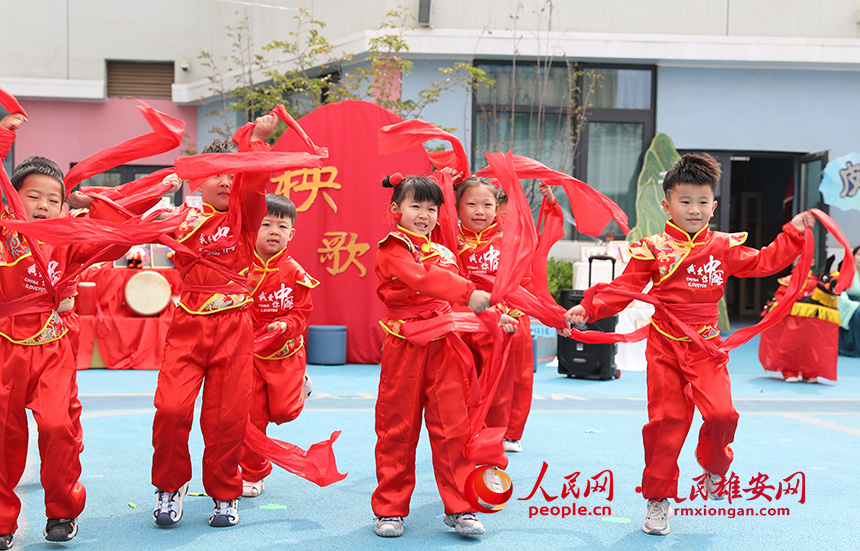
<path id="1" fill-rule="evenodd" d="M 27 462 L 27 414 L 39 427 L 41 479 L 48 518 L 75 518 L 84 509 L 80 445 L 69 417 L 75 361 L 62 338 L 22 346 L 0 338 L 0 534 L 13 533 L 21 501 L 15 486 Z M 78 425 L 80 426 L 80 425 Z"/>

